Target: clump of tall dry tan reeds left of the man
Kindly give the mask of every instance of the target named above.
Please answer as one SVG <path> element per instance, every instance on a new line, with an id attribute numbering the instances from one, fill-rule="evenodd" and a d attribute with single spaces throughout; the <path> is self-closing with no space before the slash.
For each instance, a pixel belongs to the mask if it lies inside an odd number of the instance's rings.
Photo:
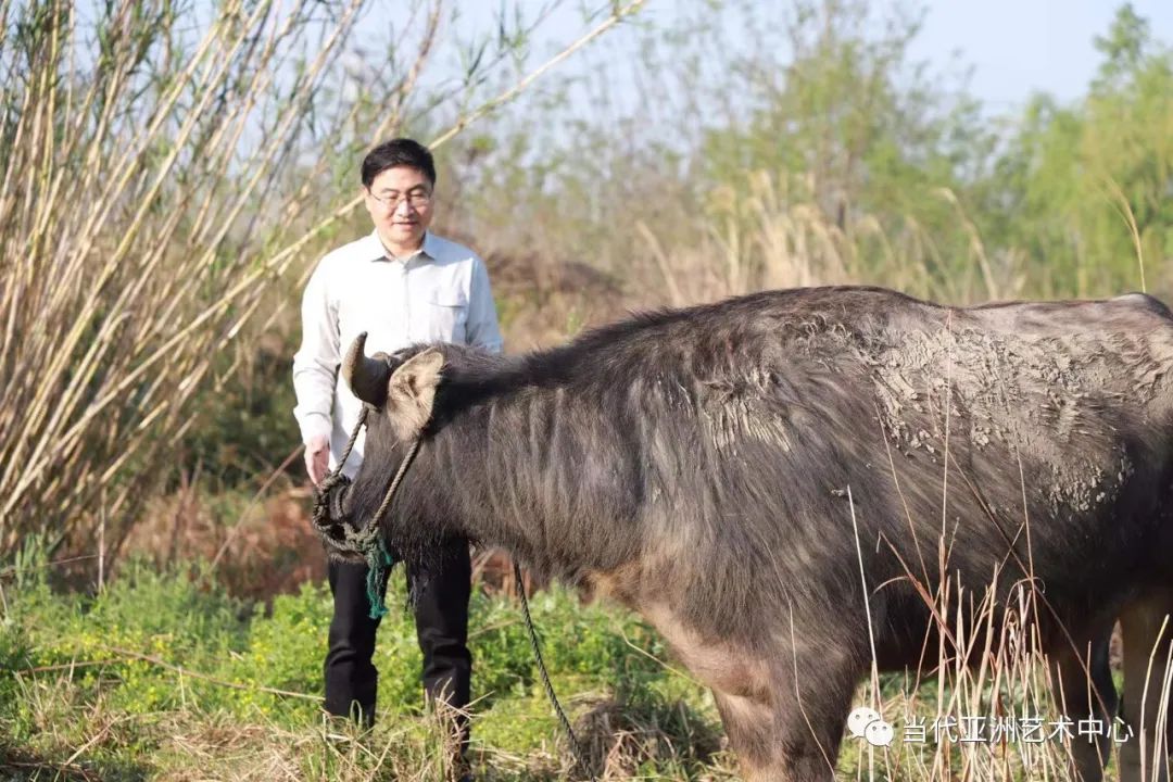
<path id="1" fill-rule="evenodd" d="M 339 72 L 365 5 L 110 0 L 89 19 L 0 0 L 0 556 L 34 532 L 89 545 L 99 516 L 116 551 L 218 352 L 361 203 L 331 165 L 407 122 L 446 8 L 396 7 L 396 40 L 355 83 Z M 642 5 L 608 4 L 435 143 Z"/>

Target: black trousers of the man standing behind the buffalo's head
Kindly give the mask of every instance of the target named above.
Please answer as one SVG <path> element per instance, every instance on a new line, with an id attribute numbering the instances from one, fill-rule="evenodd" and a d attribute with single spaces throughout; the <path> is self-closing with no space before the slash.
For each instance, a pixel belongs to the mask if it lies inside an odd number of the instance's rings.
<path id="1" fill-rule="evenodd" d="M 408 590 L 415 594 L 415 633 L 423 652 L 423 689 L 430 699 L 445 700 L 459 709 L 468 706 L 473 673 L 468 651 L 472 571 L 468 545 L 461 543 L 446 550 L 428 570 L 407 572 Z M 324 666 L 325 707 L 331 714 L 371 725 L 379 684 L 371 658 L 380 620 L 371 619 L 367 567 L 331 562 L 328 578 L 334 617 Z M 462 721 L 460 727 L 462 742 L 467 742 L 467 723 Z"/>

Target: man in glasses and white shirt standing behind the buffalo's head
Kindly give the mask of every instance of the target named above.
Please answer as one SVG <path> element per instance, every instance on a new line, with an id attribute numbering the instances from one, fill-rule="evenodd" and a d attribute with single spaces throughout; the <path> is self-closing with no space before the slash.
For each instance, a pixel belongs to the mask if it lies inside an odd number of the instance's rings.
<path id="1" fill-rule="evenodd" d="M 362 161 L 362 197 L 374 231 L 325 256 L 301 302 L 301 348 L 293 358 L 293 413 L 310 480 L 319 484 L 341 457 L 361 410 L 339 379 L 344 346 L 367 332 L 367 352 L 415 342 L 462 342 L 501 351 L 484 263 L 428 231 L 434 216 L 432 154 L 409 138 L 374 148 Z M 360 436 L 343 467 L 353 477 Z M 468 548 L 443 552 L 428 572 L 408 572 L 416 594 L 415 627 L 423 687 L 463 709 L 469 700 Z M 374 720 L 378 672 L 371 662 L 378 619 L 369 618 L 365 565 L 330 564 L 334 616 L 326 653 L 326 710 L 365 725 Z M 462 725 L 467 741 L 467 727 Z"/>

